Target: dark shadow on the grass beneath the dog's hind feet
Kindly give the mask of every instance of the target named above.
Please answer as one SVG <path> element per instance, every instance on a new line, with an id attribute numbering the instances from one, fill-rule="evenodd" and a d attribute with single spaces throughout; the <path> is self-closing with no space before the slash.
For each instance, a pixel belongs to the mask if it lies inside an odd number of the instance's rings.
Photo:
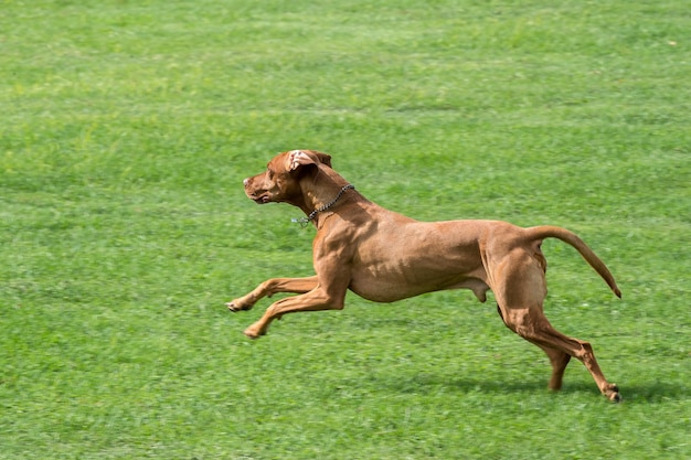
<path id="1" fill-rule="evenodd" d="M 412 379 L 400 379 L 387 382 L 393 391 L 401 393 L 428 392 L 433 388 L 444 392 L 458 393 L 487 393 L 487 394 L 515 394 L 515 395 L 538 395 L 546 394 L 570 394 L 570 393 L 592 393 L 599 395 L 595 383 L 589 382 L 564 382 L 561 392 L 550 392 L 546 379 L 523 379 L 523 381 L 501 381 L 491 377 L 454 377 L 447 375 L 421 374 Z M 629 404 L 656 404 L 665 400 L 688 399 L 691 388 L 687 385 L 676 383 L 650 382 L 649 384 L 619 385 L 621 396 Z"/>

